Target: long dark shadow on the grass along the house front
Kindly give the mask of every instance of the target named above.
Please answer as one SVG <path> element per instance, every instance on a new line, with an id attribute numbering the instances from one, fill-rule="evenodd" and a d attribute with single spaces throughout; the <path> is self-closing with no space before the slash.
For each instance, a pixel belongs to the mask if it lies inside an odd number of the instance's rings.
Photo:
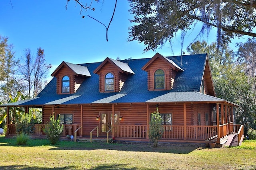
<path id="1" fill-rule="evenodd" d="M 47 139 L 30 139 L 26 145 L 17 145 L 15 138 L 0 137 L 0 146 L 6 147 L 50 147 L 48 150 L 121 150 L 134 152 L 162 152 L 162 153 L 177 153 L 188 154 L 194 150 L 203 149 L 198 147 L 184 146 L 167 146 L 158 144 L 158 147 L 152 148 L 151 143 L 88 143 L 88 142 L 72 142 L 59 141 L 56 145 L 50 145 Z"/>

